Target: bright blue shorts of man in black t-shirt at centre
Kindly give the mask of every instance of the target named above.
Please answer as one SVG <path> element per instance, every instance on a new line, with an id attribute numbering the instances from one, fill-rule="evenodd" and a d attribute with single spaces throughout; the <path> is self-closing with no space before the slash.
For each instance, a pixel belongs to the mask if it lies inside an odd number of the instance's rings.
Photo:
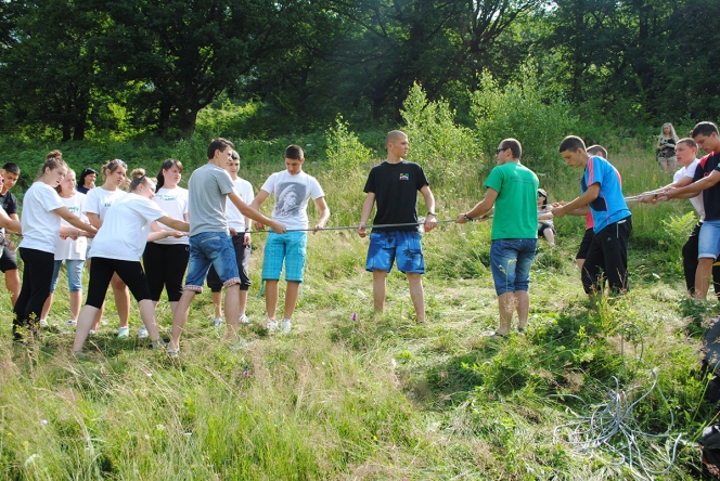
<path id="1" fill-rule="evenodd" d="M 417 231 L 372 232 L 368 247 L 365 270 L 390 272 L 393 263 L 398 271 L 411 274 L 425 273 L 425 258 Z"/>

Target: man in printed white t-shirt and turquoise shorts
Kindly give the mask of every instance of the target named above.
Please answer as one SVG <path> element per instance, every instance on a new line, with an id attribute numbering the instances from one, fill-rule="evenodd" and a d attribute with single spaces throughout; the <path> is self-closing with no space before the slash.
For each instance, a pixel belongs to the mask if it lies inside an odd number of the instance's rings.
<path id="1" fill-rule="evenodd" d="M 305 154 L 298 145 L 290 145 L 285 150 L 285 170 L 271 174 L 260 187 L 252 207 L 259 209 L 270 194 L 275 197 L 275 206 L 272 209 L 272 220 L 282 222 L 288 232 L 279 234 L 270 232 L 265 245 L 265 258 L 262 259 L 262 281 L 266 283 L 265 304 L 268 310 L 266 328 L 270 332 L 280 327 L 281 333 L 290 333 L 293 324 L 291 317 L 295 311 L 297 297 L 300 291 L 300 283 L 305 272 L 305 257 L 307 250 L 307 233 L 300 232 L 308 229 L 308 200 L 312 198 L 320 218 L 316 223 L 316 232 L 325 226 L 330 219 L 330 209 L 325 204 L 325 194 L 316 178 L 303 171 Z M 255 223 L 257 229 L 262 224 Z M 278 310 L 278 291 L 280 273 L 285 264 L 285 311 L 280 325 L 275 320 Z"/>

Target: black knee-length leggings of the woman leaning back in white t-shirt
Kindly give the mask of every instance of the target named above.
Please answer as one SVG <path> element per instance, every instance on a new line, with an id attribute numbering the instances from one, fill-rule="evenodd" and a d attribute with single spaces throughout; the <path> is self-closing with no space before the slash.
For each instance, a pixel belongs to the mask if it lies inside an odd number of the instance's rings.
<path id="1" fill-rule="evenodd" d="M 88 284 L 88 300 L 86 306 L 100 309 L 105 301 L 107 287 L 113 274 L 117 275 L 128 286 L 132 297 L 138 302 L 150 300 L 150 287 L 140 261 L 123 261 L 106 257 L 93 257 L 90 263 L 90 282 Z"/>

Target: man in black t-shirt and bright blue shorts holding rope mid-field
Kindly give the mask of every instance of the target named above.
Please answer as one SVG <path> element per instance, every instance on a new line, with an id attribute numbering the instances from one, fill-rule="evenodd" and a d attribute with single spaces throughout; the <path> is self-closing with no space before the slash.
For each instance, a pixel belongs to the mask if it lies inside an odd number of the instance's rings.
<path id="1" fill-rule="evenodd" d="M 375 312 L 385 307 L 385 280 L 397 260 L 398 270 L 406 274 L 410 284 L 410 297 L 415 308 L 419 323 L 425 321 L 425 294 L 421 274 L 425 273 L 425 260 L 417 230 L 417 191 L 423 194 L 427 206 L 424 230 L 429 232 L 437 225 L 435 197 L 430 192 L 422 167 L 404 160 L 408 154 L 408 135 L 394 130 L 385 138 L 387 160 L 373 167 L 368 176 L 364 192 L 368 194 L 362 205 L 358 234 L 367 235 L 365 223 L 370 219 L 373 205 L 377 204 L 374 225 L 370 234 L 365 270 L 373 273 L 373 300 Z M 372 226 L 371 226 L 372 227 Z"/>

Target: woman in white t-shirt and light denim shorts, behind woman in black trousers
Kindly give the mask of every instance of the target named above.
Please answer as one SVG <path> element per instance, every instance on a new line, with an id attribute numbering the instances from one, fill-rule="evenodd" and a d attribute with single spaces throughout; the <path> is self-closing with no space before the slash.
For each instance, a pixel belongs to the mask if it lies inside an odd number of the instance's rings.
<path id="1" fill-rule="evenodd" d="M 87 222 L 88 218 L 82 213 L 85 194 L 76 190 L 75 171 L 73 169 L 67 171 L 65 179 L 55 187 L 55 191 L 60 194 L 60 198 L 67 210 Z M 61 222 L 61 225 L 72 227 L 65 220 Z M 82 234 L 81 231 L 78 232 L 78 235 L 60 234 L 55 239 L 55 269 L 52 273 L 50 296 L 48 296 L 48 300 L 42 307 L 40 325 L 48 322 L 48 314 L 52 307 L 55 288 L 57 287 L 57 275 L 63 261 L 65 261 L 67 268 L 67 286 L 70 292 L 70 318 L 67 321 L 67 327 L 75 327 L 77 324 L 77 316 L 80 313 L 80 303 L 82 302 L 82 268 L 85 266 L 85 255 L 88 250 L 88 238 Z"/>

